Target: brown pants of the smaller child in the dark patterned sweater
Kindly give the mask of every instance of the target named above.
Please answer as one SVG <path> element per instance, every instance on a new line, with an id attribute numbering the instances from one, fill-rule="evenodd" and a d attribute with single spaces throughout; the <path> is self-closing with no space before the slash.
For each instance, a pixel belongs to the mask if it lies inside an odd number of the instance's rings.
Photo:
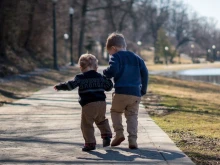
<path id="1" fill-rule="evenodd" d="M 93 123 L 95 122 L 101 132 L 102 138 L 112 137 L 112 132 L 105 117 L 106 102 L 98 101 L 86 104 L 82 107 L 81 130 L 85 144 L 96 144 Z"/>

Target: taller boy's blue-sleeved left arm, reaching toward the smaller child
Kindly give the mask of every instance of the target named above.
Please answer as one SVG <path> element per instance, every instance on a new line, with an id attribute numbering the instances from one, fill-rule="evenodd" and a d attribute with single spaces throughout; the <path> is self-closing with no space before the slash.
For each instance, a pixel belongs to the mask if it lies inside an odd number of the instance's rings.
<path id="1" fill-rule="evenodd" d="M 112 78 L 112 77 L 115 77 L 118 70 L 119 70 L 118 59 L 116 56 L 111 56 L 109 60 L 109 67 L 103 71 L 103 74 L 107 78 Z"/>

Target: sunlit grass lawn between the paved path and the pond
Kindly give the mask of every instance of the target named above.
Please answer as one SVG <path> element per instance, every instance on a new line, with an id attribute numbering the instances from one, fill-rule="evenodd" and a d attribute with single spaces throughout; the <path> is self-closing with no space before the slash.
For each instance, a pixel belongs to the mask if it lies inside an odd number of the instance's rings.
<path id="1" fill-rule="evenodd" d="M 147 110 L 177 146 L 196 164 L 220 164 L 220 86 L 151 76 L 149 91 Z"/>

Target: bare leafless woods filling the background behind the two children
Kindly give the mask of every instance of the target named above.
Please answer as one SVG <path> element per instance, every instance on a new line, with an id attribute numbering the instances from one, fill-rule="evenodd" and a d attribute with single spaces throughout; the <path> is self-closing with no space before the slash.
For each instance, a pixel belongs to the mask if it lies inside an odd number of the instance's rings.
<path id="1" fill-rule="evenodd" d="M 206 55 L 216 45 L 220 49 L 220 30 L 214 19 L 199 16 L 176 0 L 58 0 L 56 3 L 57 49 L 59 65 L 66 63 L 64 33 L 69 34 L 69 8 L 74 8 L 74 60 L 94 52 L 104 52 L 109 33 L 122 32 L 128 49 L 137 52 L 155 48 L 155 62 L 168 46 L 169 60 L 180 53 Z M 0 76 L 52 67 L 53 1 L 0 0 Z M 212 50 L 213 51 L 213 50 Z M 102 53 L 99 58 L 102 58 Z"/>

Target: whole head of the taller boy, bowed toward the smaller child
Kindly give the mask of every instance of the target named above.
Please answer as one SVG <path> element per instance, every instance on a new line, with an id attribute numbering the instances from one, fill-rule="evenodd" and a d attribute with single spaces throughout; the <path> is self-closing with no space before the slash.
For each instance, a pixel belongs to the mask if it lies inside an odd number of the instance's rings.
<path id="1" fill-rule="evenodd" d="M 114 32 L 107 38 L 106 49 L 110 55 L 118 52 L 119 50 L 125 50 L 126 46 L 123 34 Z"/>

